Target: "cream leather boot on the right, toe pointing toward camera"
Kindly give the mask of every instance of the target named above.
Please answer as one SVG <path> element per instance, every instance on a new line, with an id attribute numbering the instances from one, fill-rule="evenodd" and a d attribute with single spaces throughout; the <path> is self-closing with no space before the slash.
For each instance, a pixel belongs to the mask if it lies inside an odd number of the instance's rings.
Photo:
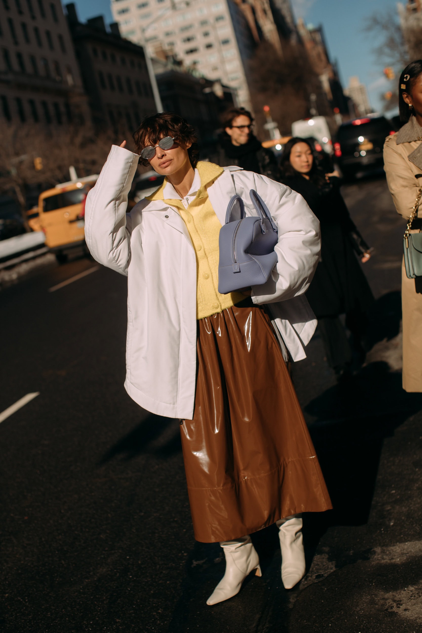
<path id="1" fill-rule="evenodd" d="M 292 589 L 305 575 L 302 515 L 282 518 L 276 525 L 282 549 L 282 581 L 285 589 Z"/>

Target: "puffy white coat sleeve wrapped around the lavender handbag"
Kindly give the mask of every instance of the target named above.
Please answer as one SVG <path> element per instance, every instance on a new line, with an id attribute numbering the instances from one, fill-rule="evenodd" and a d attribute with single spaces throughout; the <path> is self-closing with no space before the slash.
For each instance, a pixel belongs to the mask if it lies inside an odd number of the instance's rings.
<path id="1" fill-rule="evenodd" d="M 313 278 L 321 251 L 320 222 L 290 187 L 258 174 L 254 180 L 278 228 L 278 261 L 268 282 L 252 287 L 252 301 L 264 304 L 292 299 L 306 292 Z"/>

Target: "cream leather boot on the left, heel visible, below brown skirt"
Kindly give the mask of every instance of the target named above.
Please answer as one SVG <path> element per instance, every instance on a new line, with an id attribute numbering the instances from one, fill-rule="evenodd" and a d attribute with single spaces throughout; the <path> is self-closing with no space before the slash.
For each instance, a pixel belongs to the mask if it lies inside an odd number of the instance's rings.
<path id="1" fill-rule="evenodd" d="M 258 554 L 250 536 L 235 541 L 222 541 L 220 545 L 226 557 L 226 571 L 209 596 L 207 605 L 216 605 L 239 593 L 242 582 L 252 570 L 256 570 L 256 576 L 261 576 Z"/>

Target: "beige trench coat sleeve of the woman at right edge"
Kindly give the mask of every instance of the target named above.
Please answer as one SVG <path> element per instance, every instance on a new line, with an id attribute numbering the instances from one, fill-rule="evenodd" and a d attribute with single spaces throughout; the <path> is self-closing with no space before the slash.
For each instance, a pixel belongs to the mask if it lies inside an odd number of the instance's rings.
<path id="1" fill-rule="evenodd" d="M 384 143 L 384 170 L 397 213 L 408 220 L 421 185 L 414 177 L 409 160 L 397 151 L 394 136 L 387 137 Z"/>

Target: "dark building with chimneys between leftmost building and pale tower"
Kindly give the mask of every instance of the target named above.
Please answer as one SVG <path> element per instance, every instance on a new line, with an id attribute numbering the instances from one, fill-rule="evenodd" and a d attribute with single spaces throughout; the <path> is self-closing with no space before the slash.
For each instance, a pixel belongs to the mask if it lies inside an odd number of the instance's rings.
<path id="1" fill-rule="evenodd" d="M 156 111 L 144 49 L 123 39 L 117 24 L 108 32 L 102 16 L 83 24 L 75 4 L 66 11 L 94 127 L 133 132 Z"/>

